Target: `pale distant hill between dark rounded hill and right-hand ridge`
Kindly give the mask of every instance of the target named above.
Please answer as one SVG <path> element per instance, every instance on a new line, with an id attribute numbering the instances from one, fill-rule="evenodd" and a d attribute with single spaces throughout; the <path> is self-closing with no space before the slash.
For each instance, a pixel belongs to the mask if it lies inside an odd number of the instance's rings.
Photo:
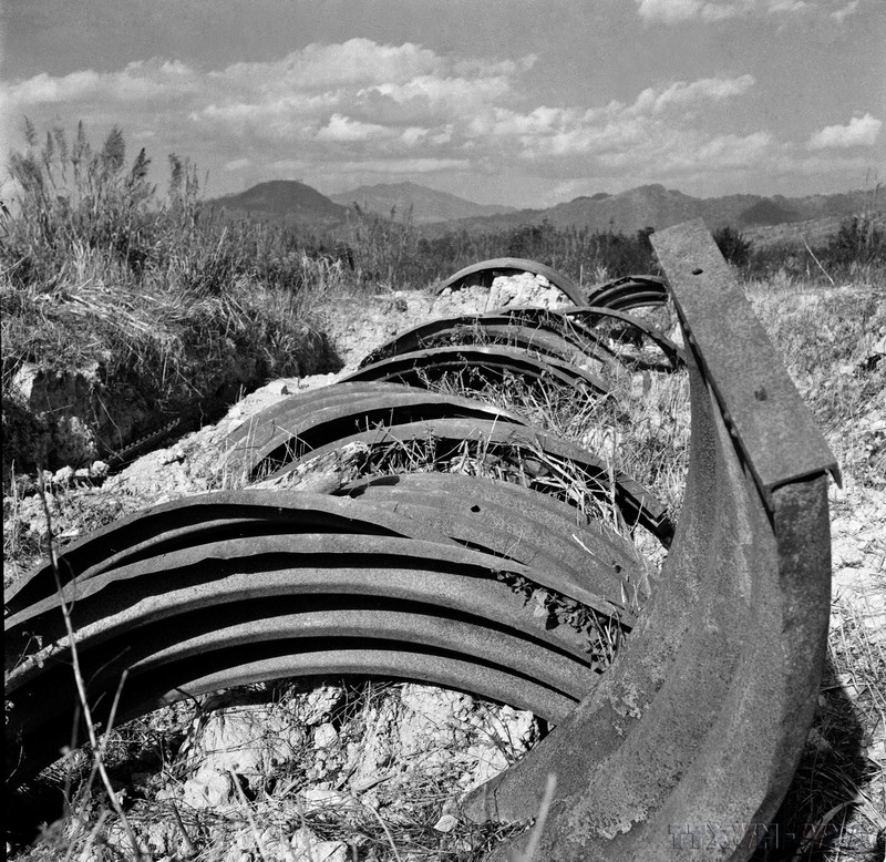
<path id="1" fill-rule="evenodd" d="M 354 188 L 352 192 L 330 195 L 330 198 L 344 206 L 351 206 L 356 203 L 361 209 L 384 216 L 390 216 L 391 209 L 402 215 L 411 208 L 412 219 L 416 225 L 516 212 L 513 206 L 475 204 L 472 201 L 465 201 L 463 197 L 456 197 L 446 192 L 437 192 L 416 183 L 364 185 Z"/>

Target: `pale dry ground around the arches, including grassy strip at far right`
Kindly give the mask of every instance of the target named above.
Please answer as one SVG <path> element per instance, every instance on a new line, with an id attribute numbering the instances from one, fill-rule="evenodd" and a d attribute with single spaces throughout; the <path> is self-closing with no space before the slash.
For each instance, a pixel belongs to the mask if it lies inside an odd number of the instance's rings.
<path id="1" fill-rule="evenodd" d="M 784 822 L 805 838 L 773 858 L 873 862 L 883 858 L 876 841 L 886 827 L 886 297 L 863 280 L 824 289 L 776 279 L 751 285 L 749 295 L 844 473 L 843 489 L 831 494 L 830 663 L 784 809 Z M 462 300 L 433 311 L 454 312 L 452 304 Z M 431 311 L 421 293 L 339 299 L 328 308 L 327 328 L 353 361 Z M 72 538 L 213 486 L 227 430 L 289 392 L 331 379 L 275 381 L 217 425 L 145 455 L 101 488 L 60 476 L 49 500 L 55 532 Z M 6 577 L 39 557 L 45 534 L 29 490 L 22 479 L 4 499 Z M 462 695 L 330 683 L 164 710 L 117 733 L 111 760 L 127 817 L 154 859 L 470 860 L 502 833 L 453 823 L 447 800 L 505 767 L 536 735 L 525 714 Z M 82 769 L 84 756 L 73 762 Z M 247 773 L 244 787 L 226 771 L 231 766 Z M 96 791 L 51 827 L 41 846 L 17 855 L 131 858 L 126 842 Z"/>

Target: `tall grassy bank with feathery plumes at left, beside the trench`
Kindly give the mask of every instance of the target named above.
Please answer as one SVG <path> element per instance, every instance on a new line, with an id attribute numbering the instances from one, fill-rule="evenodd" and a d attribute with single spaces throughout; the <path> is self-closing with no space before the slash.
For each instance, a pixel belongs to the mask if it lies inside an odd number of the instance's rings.
<path id="1" fill-rule="evenodd" d="M 56 127 L 38 146 L 25 123 L 25 144 L 10 156 L 14 197 L 0 213 L 4 404 L 24 363 L 91 369 L 103 409 L 76 409 L 92 412 L 103 453 L 171 418 L 213 415 L 271 374 L 324 370 L 307 306 L 338 273 L 300 238 L 215 219 L 196 168 L 175 155 L 158 198 L 145 151 L 128 164 L 119 129 L 99 150 L 82 123 L 73 144 Z M 4 464 L 32 464 L 28 449 L 4 448 Z"/>

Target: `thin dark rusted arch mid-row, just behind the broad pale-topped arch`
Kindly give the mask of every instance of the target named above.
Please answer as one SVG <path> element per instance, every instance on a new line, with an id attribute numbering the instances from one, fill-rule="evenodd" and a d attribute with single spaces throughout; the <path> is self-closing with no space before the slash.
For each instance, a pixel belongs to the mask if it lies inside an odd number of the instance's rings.
<path id="1" fill-rule="evenodd" d="M 360 368 L 343 377 L 342 382 L 380 380 L 424 386 L 426 377 L 452 371 L 465 372 L 470 379 L 464 383 L 480 389 L 487 386 L 490 380 L 513 376 L 527 381 L 546 380 L 567 388 L 581 388 L 601 396 L 609 392 L 601 378 L 570 362 L 554 357 L 536 358 L 523 350 L 497 345 L 457 345 L 400 353 Z"/>

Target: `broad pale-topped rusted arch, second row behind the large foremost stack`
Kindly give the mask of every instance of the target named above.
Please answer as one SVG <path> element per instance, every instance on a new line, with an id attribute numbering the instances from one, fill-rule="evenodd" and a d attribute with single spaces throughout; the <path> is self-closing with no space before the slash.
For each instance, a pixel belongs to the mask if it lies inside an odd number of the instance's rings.
<path id="1" fill-rule="evenodd" d="M 516 413 L 476 399 L 388 382 L 338 382 L 299 392 L 239 424 L 225 439 L 225 466 L 253 478 L 270 464 L 379 425 L 433 419 L 484 419 L 526 427 Z"/>

